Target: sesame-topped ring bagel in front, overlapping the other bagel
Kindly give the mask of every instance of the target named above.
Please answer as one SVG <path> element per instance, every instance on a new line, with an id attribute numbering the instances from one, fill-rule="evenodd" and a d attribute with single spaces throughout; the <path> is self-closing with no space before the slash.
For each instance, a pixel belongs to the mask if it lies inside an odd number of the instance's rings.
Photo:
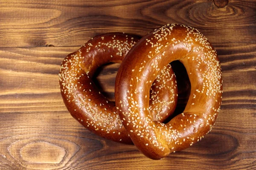
<path id="1" fill-rule="evenodd" d="M 163 124 L 154 121 L 148 109 L 150 81 L 174 60 L 185 66 L 191 92 L 183 113 Z M 143 61 L 145 67 L 139 71 L 136 63 Z M 134 85 L 136 77 L 141 80 Z M 168 24 L 129 51 L 117 73 L 115 91 L 119 116 L 134 144 L 145 156 L 161 159 L 195 144 L 212 129 L 221 106 L 221 66 L 215 49 L 198 30 Z M 138 105 L 131 106 L 132 102 Z"/>

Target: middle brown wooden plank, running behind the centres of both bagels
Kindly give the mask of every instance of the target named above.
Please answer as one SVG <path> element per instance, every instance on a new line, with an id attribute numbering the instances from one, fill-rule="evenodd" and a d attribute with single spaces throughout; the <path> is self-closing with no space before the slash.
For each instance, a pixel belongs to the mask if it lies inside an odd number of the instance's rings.
<path id="1" fill-rule="evenodd" d="M 256 90 L 256 45 L 245 44 L 215 44 L 221 60 L 224 79 L 223 105 L 227 107 L 255 107 Z M 26 107 L 25 96 L 37 97 L 44 101 L 50 97 L 56 99 L 56 103 L 49 101 L 49 108 L 62 105 L 58 89 L 58 70 L 63 58 L 76 51 L 79 47 L 38 47 L 38 48 L 1 48 L 0 49 L 0 82 L 1 99 L 0 108 L 12 111 L 18 109 L 32 109 Z M 230 53 L 230 51 L 233 51 Z M 231 59 L 230 59 L 231 58 Z M 175 65 L 173 65 L 175 66 Z M 97 84 L 107 96 L 113 100 L 115 75 L 119 64 L 106 65 L 99 73 Z M 179 71 L 176 71 L 177 73 Z M 235 74 L 234 74 L 235 73 Z M 238 81 L 239 80 L 239 81 Z M 241 93 L 239 93 L 239 91 Z M 35 94 L 35 95 L 34 95 Z M 226 96 L 227 94 L 227 96 Z M 252 98 L 248 98 L 251 96 Z M 20 100 L 18 100 L 20 98 Z M 6 104 L 3 106 L 5 100 Z M 9 104 L 9 101 L 15 103 Z M 19 102 L 20 103 L 19 103 Z M 225 102 L 227 101 L 227 102 Z M 241 102 L 238 103 L 237 101 Z M 39 101 L 35 100 L 35 105 Z M 246 105 L 244 105 L 246 104 Z M 16 105 L 16 106 L 15 106 Z M 15 106 L 15 107 L 14 107 Z M 17 109 L 17 108 L 15 108 Z M 14 109 L 14 111 L 15 111 Z M 0 112 L 1 112 L 0 110 Z M 17 110 L 16 110 L 17 111 Z M 19 110 L 20 111 L 20 110 Z"/>

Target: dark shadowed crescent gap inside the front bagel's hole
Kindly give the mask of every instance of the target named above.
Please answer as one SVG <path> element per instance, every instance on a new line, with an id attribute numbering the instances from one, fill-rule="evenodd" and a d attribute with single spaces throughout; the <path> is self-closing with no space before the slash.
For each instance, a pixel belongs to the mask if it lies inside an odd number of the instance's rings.
<path id="1" fill-rule="evenodd" d="M 172 65 L 172 69 L 176 76 L 178 87 L 178 99 L 174 113 L 168 119 L 166 119 L 164 123 L 168 123 L 172 118 L 174 118 L 175 116 L 177 116 L 185 110 L 191 91 L 189 76 L 186 72 L 186 68 L 184 67 L 184 65 L 178 60 L 173 61 L 170 64 Z"/>

